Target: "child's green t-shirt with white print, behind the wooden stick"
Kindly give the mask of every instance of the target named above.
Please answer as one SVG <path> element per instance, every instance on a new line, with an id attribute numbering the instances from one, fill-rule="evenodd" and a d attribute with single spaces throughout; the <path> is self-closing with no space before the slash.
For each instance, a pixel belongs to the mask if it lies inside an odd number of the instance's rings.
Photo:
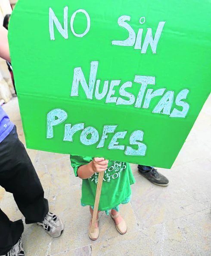
<path id="1" fill-rule="evenodd" d="M 93 158 L 88 156 L 70 156 L 75 176 L 81 165 L 86 165 Z M 82 180 L 81 204 L 94 206 L 98 173 L 91 178 Z M 131 194 L 130 185 L 135 183 L 130 164 L 109 160 L 108 168 L 104 172 L 99 210 L 112 209 L 124 202 Z"/>

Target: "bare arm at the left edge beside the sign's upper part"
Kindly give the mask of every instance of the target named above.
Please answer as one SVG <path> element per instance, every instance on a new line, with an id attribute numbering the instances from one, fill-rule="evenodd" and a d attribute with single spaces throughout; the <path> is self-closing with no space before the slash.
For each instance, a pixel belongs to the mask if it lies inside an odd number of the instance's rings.
<path id="1" fill-rule="evenodd" d="M 11 62 L 9 56 L 8 31 L 0 26 L 0 57 Z"/>

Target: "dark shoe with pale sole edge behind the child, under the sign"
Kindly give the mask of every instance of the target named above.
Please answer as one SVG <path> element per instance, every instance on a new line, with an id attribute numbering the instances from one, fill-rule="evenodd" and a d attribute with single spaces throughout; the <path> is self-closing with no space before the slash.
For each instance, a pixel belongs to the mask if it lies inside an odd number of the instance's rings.
<path id="1" fill-rule="evenodd" d="M 155 168 L 152 168 L 149 172 L 143 172 L 142 169 L 139 168 L 138 170 L 142 176 L 144 176 L 148 181 L 151 181 L 152 183 L 158 185 L 167 187 L 168 186 L 168 178 L 166 178 L 164 175 L 159 173 Z"/>

